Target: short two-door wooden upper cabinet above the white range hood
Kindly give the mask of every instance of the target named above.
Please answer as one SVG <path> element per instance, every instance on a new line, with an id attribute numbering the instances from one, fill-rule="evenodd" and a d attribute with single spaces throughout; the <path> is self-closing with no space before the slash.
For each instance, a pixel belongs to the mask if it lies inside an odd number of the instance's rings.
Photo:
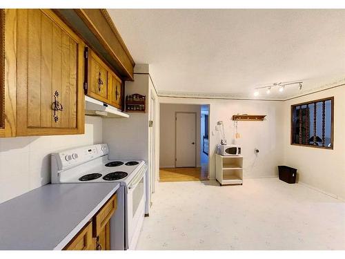
<path id="1" fill-rule="evenodd" d="M 88 86 L 86 95 L 98 99 L 101 102 L 122 108 L 122 81 L 113 70 L 90 48 L 86 58 L 88 66 Z"/>

